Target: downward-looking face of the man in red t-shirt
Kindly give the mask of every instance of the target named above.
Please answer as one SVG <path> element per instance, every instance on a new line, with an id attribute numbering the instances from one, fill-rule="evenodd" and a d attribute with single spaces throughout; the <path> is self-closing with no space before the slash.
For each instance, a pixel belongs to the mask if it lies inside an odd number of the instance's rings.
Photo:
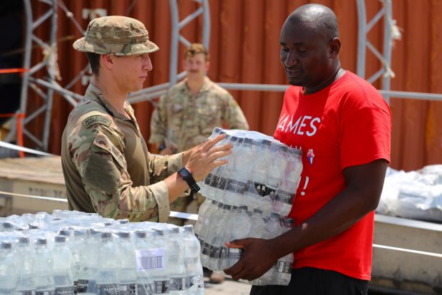
<path id="1" fill-rule="evenodd" d="M 332 71 L 329 42 L 312 27 L 286 21 L 279 43 L 281 63 L 290 84 L 312 88 Z"/>

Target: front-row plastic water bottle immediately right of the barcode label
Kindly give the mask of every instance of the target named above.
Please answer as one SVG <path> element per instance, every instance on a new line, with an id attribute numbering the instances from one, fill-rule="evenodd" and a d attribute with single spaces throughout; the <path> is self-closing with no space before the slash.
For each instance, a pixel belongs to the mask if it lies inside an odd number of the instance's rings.
<path id="1" fill-rule="evenodd" d="M 180 237 L 179 227 L 169 227 L 166 242 L 166 269 L 170 274 L 169 294 L 181 295 L 187 289 L 187 274 L 184 265 L 183 241 Z"/>

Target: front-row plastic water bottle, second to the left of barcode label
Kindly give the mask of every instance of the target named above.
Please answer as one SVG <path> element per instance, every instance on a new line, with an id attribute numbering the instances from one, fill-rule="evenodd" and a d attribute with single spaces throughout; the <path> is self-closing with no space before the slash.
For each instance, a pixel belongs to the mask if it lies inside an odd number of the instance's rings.
<path id="1" fill-rule="evenodd" d="M 113 237 L 110 232 L 101 233 L 101 243 L 97 249 L 98 256 L 98 276 L 97 276 L 97 294 L 98 295 L 118 295 L 118 267 L 120 257 L 113 243 Z"/>

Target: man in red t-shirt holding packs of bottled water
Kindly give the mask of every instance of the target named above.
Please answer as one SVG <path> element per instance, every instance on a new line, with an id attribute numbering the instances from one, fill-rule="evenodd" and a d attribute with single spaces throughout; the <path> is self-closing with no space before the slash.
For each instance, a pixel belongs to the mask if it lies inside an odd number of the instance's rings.
<path id="1" fill-rule="evenodd" d="M 390 160 L 391 113 L 380 93 L 339 62 L 336 16 L 319 4 L 299 7 L 282 26 L 281 63 L 290 86 L 274 138 L 301 148 L 302 179 L 274 239 L 240 239 L 245 249 L 226 269 L 252 280 L 293 252 L 289 286 L 253 286 L 250 294 L 366 294 L 374 209 Z"/>

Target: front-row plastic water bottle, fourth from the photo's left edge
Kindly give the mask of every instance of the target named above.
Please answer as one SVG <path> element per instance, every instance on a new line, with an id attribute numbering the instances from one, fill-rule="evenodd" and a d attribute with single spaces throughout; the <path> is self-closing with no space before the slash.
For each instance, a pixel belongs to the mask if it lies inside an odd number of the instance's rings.
<path id="1" fill-rule="evenodd" d="M 53 245 L 53 280 L 56 295 L 73 294 L 73 279 L 71 274 L 72 255 L 66 245 L 65 236 L 56 236 Z"/>

